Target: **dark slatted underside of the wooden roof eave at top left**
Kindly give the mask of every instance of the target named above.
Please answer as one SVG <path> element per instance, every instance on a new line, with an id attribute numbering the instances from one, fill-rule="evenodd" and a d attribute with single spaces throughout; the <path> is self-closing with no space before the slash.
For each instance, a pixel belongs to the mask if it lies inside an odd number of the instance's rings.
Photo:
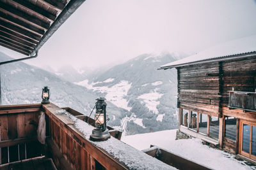
<path id="1" fill-rule="evenodd" d="M 35 55 L 84 1 L 0 0 L 0 45 L 24 55 Z"/>

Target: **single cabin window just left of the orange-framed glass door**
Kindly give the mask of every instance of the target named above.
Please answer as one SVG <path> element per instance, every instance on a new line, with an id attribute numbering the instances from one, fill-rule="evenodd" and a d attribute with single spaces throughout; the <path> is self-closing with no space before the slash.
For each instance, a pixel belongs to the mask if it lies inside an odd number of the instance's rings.
<path id="1" fill-rule="evenodd" d="M 225 117 L 225 138 L 236 141 L 236 118 Z"/>

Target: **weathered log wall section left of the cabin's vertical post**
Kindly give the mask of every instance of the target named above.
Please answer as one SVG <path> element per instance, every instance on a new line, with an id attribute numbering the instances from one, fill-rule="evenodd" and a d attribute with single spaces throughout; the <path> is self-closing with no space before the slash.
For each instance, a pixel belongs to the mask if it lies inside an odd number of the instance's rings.
<path id="1" fill-rule="evenodd" d="M 219 63 L 179 67 L 180 108 L 218 116 Z"/>

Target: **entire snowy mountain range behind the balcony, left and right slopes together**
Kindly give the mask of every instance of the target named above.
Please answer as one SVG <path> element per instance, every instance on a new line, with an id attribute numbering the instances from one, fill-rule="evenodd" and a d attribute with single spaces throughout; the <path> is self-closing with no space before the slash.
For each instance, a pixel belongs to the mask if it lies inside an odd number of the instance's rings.
<path id="1" fill-rule="evenodd" d="M 0 53 L 0 60 L 10 59 Z M 176 59 L 173 54 L 144 54 L 103 73 L 76 73 L 66 67 L 59 75 L 24 62 L 6 64 L 0 66 L 2 104 L 40 103 L 42 88 L 48 86 L 52 103 L 84 115 L 89 115 L 95 99 L 105 96 L 108 124 L 125 131 L 124 135 L 176 129 L 176 73 L 157 70 Z M 86 79 L 72 83 L 83 76 Z"/>

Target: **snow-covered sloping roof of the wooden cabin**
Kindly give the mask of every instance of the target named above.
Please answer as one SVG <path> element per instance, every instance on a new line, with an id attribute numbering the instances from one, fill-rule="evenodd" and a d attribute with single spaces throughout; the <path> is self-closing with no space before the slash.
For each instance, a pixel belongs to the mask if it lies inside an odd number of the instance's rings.
<path id="1" fill-rule="evenodd" d="M 216 60 L 228 60 L 237 57 L 246 57 L 247 55 L 254 55 L 255 52 L 256 34 L 213 46 L 212 48 L 196 53 L 195 55 L 164 64 L 160 67 L 160 69 L 198 64 L 199 62 L 212 62 Z"/>

